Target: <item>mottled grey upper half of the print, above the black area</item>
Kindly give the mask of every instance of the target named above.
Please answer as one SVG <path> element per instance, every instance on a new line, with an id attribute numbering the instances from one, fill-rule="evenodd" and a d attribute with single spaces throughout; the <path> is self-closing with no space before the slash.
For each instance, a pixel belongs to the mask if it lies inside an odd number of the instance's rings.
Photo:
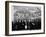
<path id="1" fill-rule="evenodd" d="M 41 16 L 41 7 L 12 6 L 12 20 L 33 19 Z"/>

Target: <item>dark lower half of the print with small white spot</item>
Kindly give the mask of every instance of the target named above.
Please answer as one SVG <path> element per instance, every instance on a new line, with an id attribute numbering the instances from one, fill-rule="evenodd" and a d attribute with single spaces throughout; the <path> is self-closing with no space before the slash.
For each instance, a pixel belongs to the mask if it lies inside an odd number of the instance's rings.
<path id="1" fill-rule="evenodd" d="M 31 20 L 17 20 L 15 23 L 12 22 L 12 30 L 34 30 L 34 29 L 41 29 L 41 21 L 34 21 Z"/>

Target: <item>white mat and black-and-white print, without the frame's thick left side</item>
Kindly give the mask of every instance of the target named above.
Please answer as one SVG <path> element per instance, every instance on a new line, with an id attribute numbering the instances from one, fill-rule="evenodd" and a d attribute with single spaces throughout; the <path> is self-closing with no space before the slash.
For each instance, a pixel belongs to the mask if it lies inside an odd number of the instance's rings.
<path id="1" fill-rule="evenodd" d="M 9 35 L 44 33 L 44 3 L 9 2 L 8 6 Z"/>

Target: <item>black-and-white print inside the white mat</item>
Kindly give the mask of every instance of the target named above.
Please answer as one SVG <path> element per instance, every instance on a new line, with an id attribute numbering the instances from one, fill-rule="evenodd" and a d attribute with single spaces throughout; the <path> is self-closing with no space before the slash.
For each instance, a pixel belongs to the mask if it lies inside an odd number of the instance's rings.
<path id="1" fill-rule="evenodd" d="M 41 29 L 41 7 L 12 6 L 12 31 Z"/>

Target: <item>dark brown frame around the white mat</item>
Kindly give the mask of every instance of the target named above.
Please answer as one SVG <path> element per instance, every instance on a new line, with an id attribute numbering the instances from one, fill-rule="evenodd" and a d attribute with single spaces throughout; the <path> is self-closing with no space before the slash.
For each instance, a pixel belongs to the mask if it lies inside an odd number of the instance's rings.
<path id="1" fill-rule="evenodd" d="M 44 5 L 44 32 L 43 33 L 11 34 L 10 35 L 9 34 L 9 3 L 26 3 L 26 4 L 42 4 L 42 5 Z M 18 36 L 18 35 L 33 35 L 33 34 L 45 34 L 45 3 L 5 1 L 5 35 L 6 36 Z"/>

